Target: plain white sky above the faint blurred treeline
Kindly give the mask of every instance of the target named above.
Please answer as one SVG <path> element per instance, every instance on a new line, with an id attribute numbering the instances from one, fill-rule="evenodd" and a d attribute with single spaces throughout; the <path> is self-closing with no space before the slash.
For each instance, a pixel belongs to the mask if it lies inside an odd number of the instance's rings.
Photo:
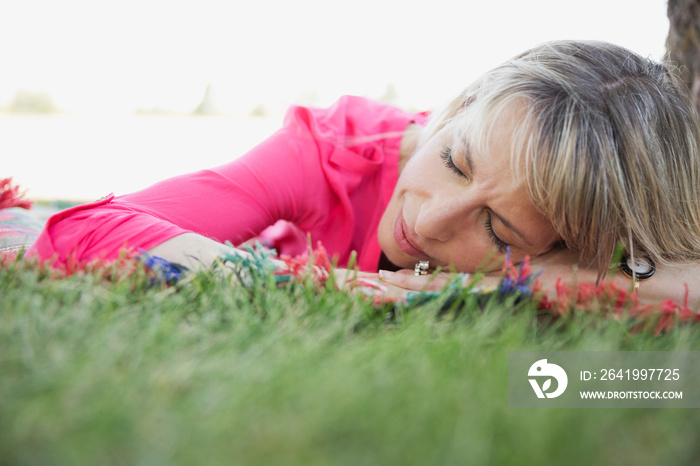
<path id="1" fill-rule="evenodd" d="M 4 0 L 0 106 L 43 91 L 73 113 L 273 110 L 315 92 L 432 108 L 550 39 L 601 39 L 661 58 L 664 0 Z"/>

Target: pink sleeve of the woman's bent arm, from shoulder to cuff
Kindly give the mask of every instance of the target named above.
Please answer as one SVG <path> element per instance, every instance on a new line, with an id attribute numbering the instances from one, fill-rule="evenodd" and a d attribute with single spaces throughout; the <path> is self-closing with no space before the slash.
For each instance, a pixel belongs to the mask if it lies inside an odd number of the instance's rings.
<path id="1" fill-rule="evenodd" d="M 111 260 L 124 249 L 147 250 L 188 232 L 239 244 L 279 219 L 303 219 L 305 180 L 321 174 L 318 148 L 304 126 L 288 120 L 228 164 L 56 214 L 28 256 L 54 264 Z"/>

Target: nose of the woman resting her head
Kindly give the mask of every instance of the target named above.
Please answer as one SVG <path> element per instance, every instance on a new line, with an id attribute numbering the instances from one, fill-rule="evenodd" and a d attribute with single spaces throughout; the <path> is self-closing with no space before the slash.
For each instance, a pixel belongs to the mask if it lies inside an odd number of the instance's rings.
<path id="1" fill-rule="evenodd" d="M 426 199 L 416 218 L 416 234 L 436 241 L 448 241 L 464 232 L 469 220 L 478 212 L 474 199 L 462 196 L 433 196 Z"/>

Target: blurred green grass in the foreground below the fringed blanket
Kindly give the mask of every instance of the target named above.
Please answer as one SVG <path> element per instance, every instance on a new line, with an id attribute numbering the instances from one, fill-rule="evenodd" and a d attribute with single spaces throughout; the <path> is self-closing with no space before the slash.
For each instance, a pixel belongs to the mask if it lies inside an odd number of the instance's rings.
<path id="1" fill-rule="evenodd" d="M 530 305 L 391 315 L 359 296 L 141 269 L 0 270 L 0 464 L 696 464 L 693 409 L 510 409 L 513 350 L 698 350 Z"/>

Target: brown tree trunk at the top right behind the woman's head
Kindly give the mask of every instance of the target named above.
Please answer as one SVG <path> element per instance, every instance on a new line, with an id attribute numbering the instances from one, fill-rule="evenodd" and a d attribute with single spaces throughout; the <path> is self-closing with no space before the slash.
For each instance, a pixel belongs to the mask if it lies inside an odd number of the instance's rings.
<path id="1" fill-rule="evenodd" d="M 681 67 L 681 77 L 700 113 L 700 0 L 668 0 L 667 14 L 671 23 L 668 59 Z"/>

